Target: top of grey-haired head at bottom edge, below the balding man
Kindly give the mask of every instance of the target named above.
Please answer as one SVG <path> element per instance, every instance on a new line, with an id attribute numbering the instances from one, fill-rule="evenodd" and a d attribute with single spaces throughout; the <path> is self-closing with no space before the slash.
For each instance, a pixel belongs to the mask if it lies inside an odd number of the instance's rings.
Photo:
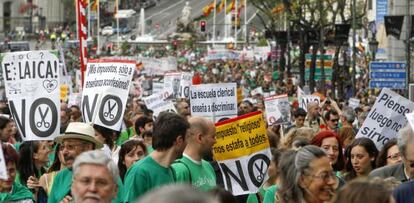
<path id="1" fill-rule="evenodd" d="M 208 193 L 201 192 L 188 184 L 171 184 L 155 189 L 136 203 L 214 203 Z"/>

